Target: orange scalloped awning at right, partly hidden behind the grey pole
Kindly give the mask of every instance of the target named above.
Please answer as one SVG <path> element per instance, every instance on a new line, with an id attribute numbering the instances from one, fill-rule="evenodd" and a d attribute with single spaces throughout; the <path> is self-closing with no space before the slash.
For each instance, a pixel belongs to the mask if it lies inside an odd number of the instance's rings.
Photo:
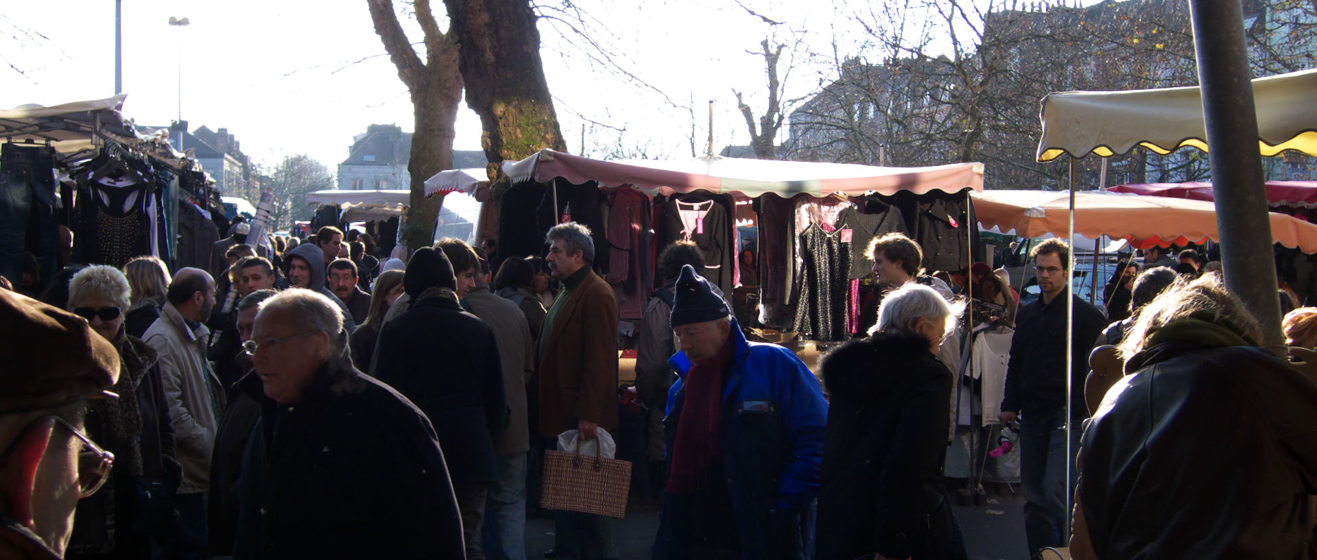
<path id="1" fill-rule="evenodd" d="M 1014 229 L 1021 237 L 1069 234 L 1069 196 L 1054 191 L 984 191 L 973 195 L 984 227 Z M 1317 252 L 1317 223 L 1271 212 L 1271 235 L 1285 247 Z M 1102 192 L 1075 193 L 1075 231 L 1134 237 L 1156 245 L 1179 239 L 1220 241 L 1213 202 Z"/>

